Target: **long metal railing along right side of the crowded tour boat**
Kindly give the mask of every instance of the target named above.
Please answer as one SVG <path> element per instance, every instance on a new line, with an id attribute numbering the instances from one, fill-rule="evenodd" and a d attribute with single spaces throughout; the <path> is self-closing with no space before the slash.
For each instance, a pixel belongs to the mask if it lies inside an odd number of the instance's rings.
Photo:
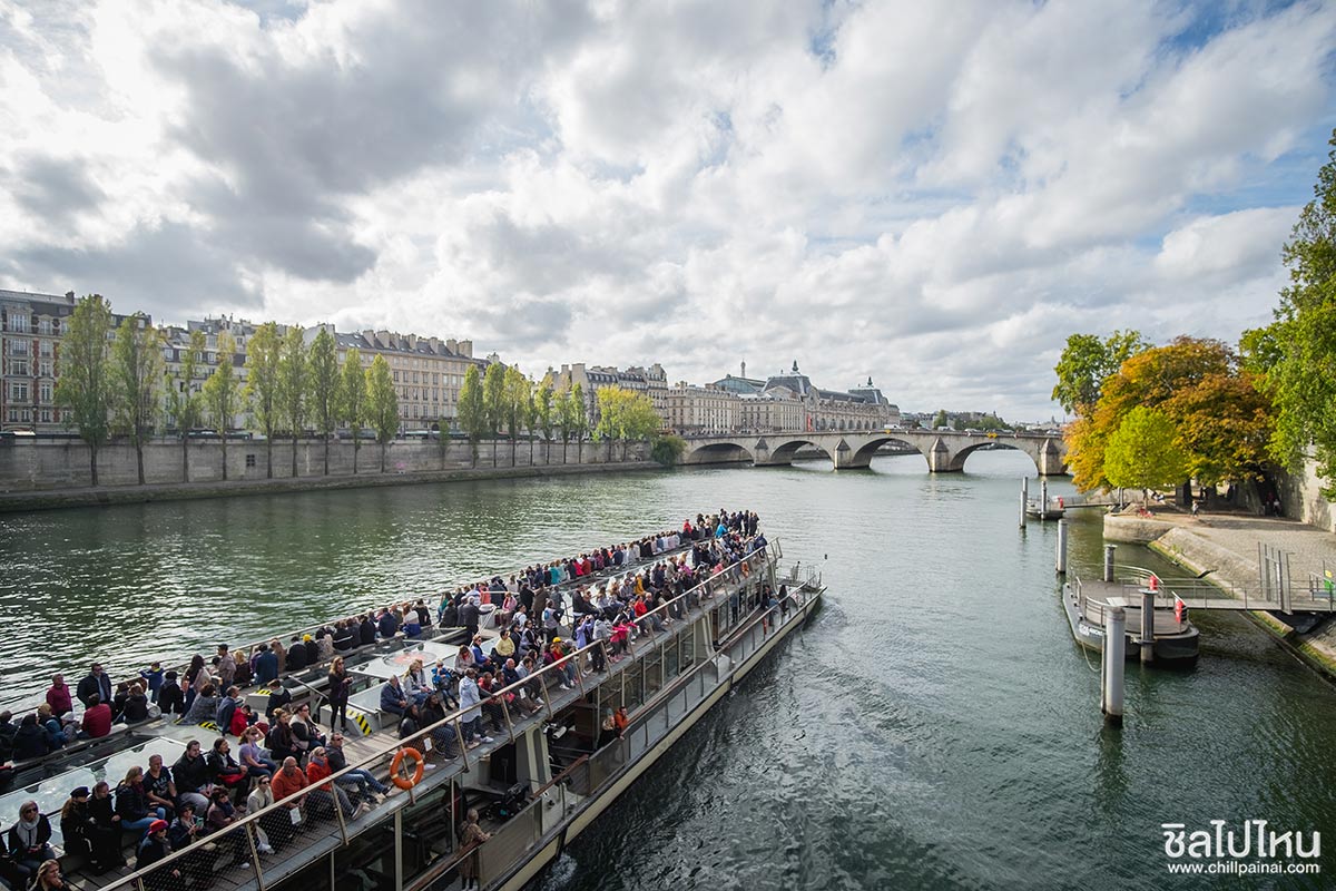
<path id="1" fill-rule="evenodd" d="M 695 609 L 701 605 L 701 601 L 712 600 L 721 593 L 732 593 L 732 588 L 745 588 L 752 573 L 768 560 L 771 560 L 770 545 L 767 545 L 767 548 L 754 550 L 721 570 L 709 574 L 687 592 L 677 594 L 664 604 L 660 604 L 645 614 L 636 617 L 633 621 L 637 627 L 645 627 L 641 622 L 644 622 L 648 617 L 660 616 L 661 618 L 663 616 L 668 616 L 669 610 L 675 608 L 675 605 L 680 608 L 685 604 L 688 609 Z M 778 606 L 767 609 L 764 614 L 768 614 L 774 609 L 778 609 Z M 751 620 L 751 628 L 755 629 L 760 621 L 762 616 L 754 617 Z M 649 627 L 652 628 L 652 624 Z M 676 632 L 669 631 L 667 632 L 667 636 L 672 636 L 673 633 Z M 651 632 L 648 637 L 651 643 L 664 640 L 665 632 Z M 641 641 L 641 648 L 644 647 L 645 641 Z M 553 681 L 560 683 L 558 673 L 564 673 L 565 667 L 572 660 L 576 660 L 576 665 L 578 667 L 582 660 L 587 656 L 591 656 L 596 649 L 601 649 L 605 659 L 612 656 L 608 643 L 604 640 L 596 640 L 587 647 L 553 661 L 550 665 L 544 665 L 542 668 L 536 669 L 532 675 L 516 684 L 493 691 L 477 705 L 472 705 L 466 709 L 456 709 L 446 715 L 442 720 L 421 728 L 407 739 L 399 740 L 395 744 L 389 745 L 371 756 L 361 759 L 354 764 L 349 764 L 342 771 L 334 772 L 330 777 L 321 780 L 319 783 L 313 783 L 289 796 L 277 799 L 269 807 L 255 811 L 254 814 L 247 814 L 234 824 L 226 827 L 224 830 L 211 832 L 206 838 L 216 846 L 215 850 L 231 854 L 236 863 L 248 863 L 250 868 L 255 874 L 257 886 L 263 888 L 269 882 L 275 882 L 286 875 L 290 875 L 291 871 L 299 868 L 302 863 L 310 862 L 315 856 L 329 854 L 341 846 L 346 846 L 353 835 L 357 835 L 375 824 L 394 810 L 405 807 L 405 797 L 409 804 L 417 803 L 417 787 L 410 784 L 406 796 L 391 797 L 387 801 L 373 807 L 366 814 L 349 815 L 345 814 L 341 807 L 338 793 L 331 793 L 331 789 L 339 788 L 339 780 L 351 779 L 354 771 L 370 771 L 377 776 L 390 775 L 390 777 L 394 779 L 394 768 L 398 767 L 395 764 L 395 759 L 398 759 L 405 749 L 415 749 L 424 759 L 428 759 L 430 757 L 432 751 L 442 743 L 449 743 L 450 747 L 456 749 L 457 757 L 461 759 L 464 771 L 472 769 L 477 760 L 470 760 L 472 749 L 469 749 L 464 741 L 465 723 L 472 723 L 477 717 L 481 717 L 488 705 L 498 707 L 504 717 L 509 740 L 513 741 L 517 739 L 520 732 L 524 732 L 533 725 L 533 719 L 537 717 L 541 720 L 541 716 L 544 715 L 548 720 L 554 717 L 556 705 L 553 704 L 553 691 L 550 689 L 556 685 Z M 632 659 L 639 659 L 636 655 L 635 640 L 628 639 L 628 649 Z M 699 672 L 712 664 L 713 663 L 709 659 L 705 659 L 703 655 L 697 655 L 697 660 L 692 665 L 692 672 L 699 675 Z M 582 696 L 587 692 L 582 671 L 576 672 L 576 681 L 580 696 Z M 700 689 L 703 693 L 703 683 Z M 516 705 L 516 703 L 521 699 L 528 700 L 530 696 L 538 708 L 534 712 L 525 713 L 525 709 Z M 588 769 L 592 773 L 593 768 Z M 565 787 L 562 787 L 562 789 L 564 788 Z M 561 795 L 566 795 L 566 792 L 562 791 Z M 564 807 L 565 806 L 562 806 L 562 808 Z M 538 816 L 529 819 L 538 820 L 544 824 L 546 823 L 546 819 L 542 816 L 545 808 L 530 810 L 536 811 Z M 297 811 L 301 816 L 293 818 L 293 811 Z M 564 811 L 561 811 L 561 814 L 564 814 Z M 556 819 L 560 819 L 560 814 Z M 297 823 L 297 820 L 301 822 Z M 303 831 L 303 848 L 306 856 L 301 859 L 301 863 L 294 863 L 291 858 L 277 860 L 270 868 L 286 864 L 289 867 L 287 871 L 282 875 L 266 876 L 266 867 L 261 863 L 259 858 L 259 838 L 257 831 L 262 828 L 269 832 L 291 831 L 293 826 L 298 826 Z M 518 828 L 508 831 L 506 836 L 500 839 L 502 844 L 493 848 L 497 854 L 482 855 L 484 863 L 486 863 L 490 858 L 501 858 L 502 850 L 514 848 L 521 844 L 521 840 L 524 840 L 522 843 L 525 846 L 532 843 L 528 840 L 530 838 L 530 832 L 524 830 L 524 826 L 525 823 L 521 822 Z M 506 838 L 510 838 L 510 843 L 506 843 Z M 492 846 L 493 840 L 488 842 L 484 851 Z M 518 851 L 522 852 L 522 847 L 520 847 Z M 512 855 L 513 854 L 514 852 L 512 851 Z M 122 876 L 120 879 L 103 886 L 103 891 L 111 891 L 112 888 L 136 888 L 138 891 L 147 891 L 151 887 L 159 887 L 163 883 L 164 876 L 171 875 L 174 870 L 179 871 L 182 875 L 191 875 L 191 871 L 194 870 L 192 864 L 198 863 L 198 844 L 186 847 L 180 851 L 172 851 L 164 859 L 148 867 L 136 868 L 130 875 Z"/>

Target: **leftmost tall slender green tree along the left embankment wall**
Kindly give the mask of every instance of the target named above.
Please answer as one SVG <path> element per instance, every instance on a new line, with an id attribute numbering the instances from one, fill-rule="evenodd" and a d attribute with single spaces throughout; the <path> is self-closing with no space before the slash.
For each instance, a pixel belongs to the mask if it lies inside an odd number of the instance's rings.
<path id="1" fill-rule="evenodd" d="M 75 306 L 65 335 L 60 338 L 60 377 L 56 405 L 68 409 L 65 426 L 73 423 L 88 443 L 92 485 L 98 485 L 98 449 L 107 442 L 112 381 L 107 337 L 111 334 L 111 303 L 102 294 L 88 294 Z"/>

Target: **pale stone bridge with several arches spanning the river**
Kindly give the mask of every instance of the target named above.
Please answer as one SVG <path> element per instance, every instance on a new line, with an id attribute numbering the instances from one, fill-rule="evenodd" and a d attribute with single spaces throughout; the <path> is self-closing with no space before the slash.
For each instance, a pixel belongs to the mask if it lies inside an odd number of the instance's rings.
<path id="1" fill-rule="evenodd" d="M 787 466 L 799 449 L 824 452 L 836 470 L 867 468 L 886 443 L 907 445 L 927 460 L 933 473 L 959 473 L 971 453 L 987 448 L 1015 449 L 1030 456 L 1041 477 L 1067 472 L 1067 448 L 1049 433 L 965 433 L 961 430 L 788 430 L 751 434 L 684 435 L 683 465 L 751 462 L 758 468 Z"/>

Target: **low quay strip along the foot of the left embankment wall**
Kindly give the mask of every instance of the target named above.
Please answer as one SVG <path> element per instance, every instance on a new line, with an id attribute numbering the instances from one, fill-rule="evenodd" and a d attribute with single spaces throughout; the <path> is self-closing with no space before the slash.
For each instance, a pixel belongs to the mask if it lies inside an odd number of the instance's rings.
<path id="1" fill-rule="evenodd" d="M 414 473 L 383 473 L 355 477 L 283 477 L 278 480 L 228 480 L 208 482 L 156 482 L 143 486 L 86 486 L 80 489 L 53 489 L 37 492 L 0 493 L 0 513 L 28 510 L 55 510 L 60 508 L 88 508 L 95 505 L 146 504 L 151 501 L 183 501 L 190 498 L 231 498 L 236 496 L 263 496 L 293 492 L 322 492 L 335 489 L 367 489 L 375 486 L 417 486 L 430 482 L 462 482 L 474 480 L 521 480 L 532 477 L 566 477 L 581 473 L 617 470 L 660 470 L 655 461 L 621 461 L 616 464 L 521 465 L 516 468 L 454 468 L 450 470 L 418 470 Z"/>

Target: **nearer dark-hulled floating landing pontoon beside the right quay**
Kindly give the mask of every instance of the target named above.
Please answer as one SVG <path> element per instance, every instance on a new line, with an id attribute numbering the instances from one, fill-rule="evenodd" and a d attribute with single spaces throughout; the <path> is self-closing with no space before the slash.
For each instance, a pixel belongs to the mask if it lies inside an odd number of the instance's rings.
<path id="1" fill-rule="evenodd" d="M 1150 573 L 1126 582 L 1082 581 L 1075 573 L 1062 584 L 1062 606 L 1071 636 L 1086 649 L 1104 651 L 1105 616 L 1109 608 L 1122 606 L 1126 613 L 1126 655 L 1141 653 L 1141 592 Z M 1197 659 L 1197 628 L 1188 620 L 1186 609 L 1176 609 L 1172 592 L 1156 592 L 1154 659 L 1157 663 L 1192 663 Z"/>

